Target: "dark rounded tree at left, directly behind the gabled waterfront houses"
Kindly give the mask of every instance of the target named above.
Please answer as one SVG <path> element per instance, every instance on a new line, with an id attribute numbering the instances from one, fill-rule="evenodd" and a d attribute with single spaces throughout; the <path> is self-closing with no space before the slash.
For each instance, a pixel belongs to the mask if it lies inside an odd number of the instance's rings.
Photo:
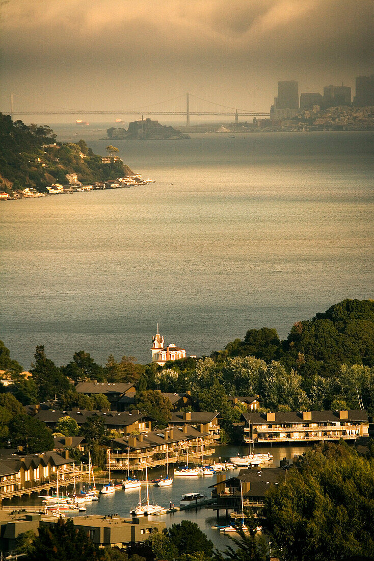
<path id="1" fill-rule="evenodd" d="M 45 452 L 53 449 L 52 432 L 43 422 L 29 415 L 17 415 L 9 424 L 11 446 L 24 447 L 27 452 Z"/>

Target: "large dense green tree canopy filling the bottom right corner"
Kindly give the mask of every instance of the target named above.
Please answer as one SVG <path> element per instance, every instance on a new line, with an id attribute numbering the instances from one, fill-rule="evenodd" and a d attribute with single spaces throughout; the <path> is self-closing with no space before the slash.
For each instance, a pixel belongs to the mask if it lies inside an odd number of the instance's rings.
<path id="1" fill-rule="evenodd" d="M 282 561 L 374 557 L 374 459 L 318 446 L 269 490 L 266 515 Z"/>

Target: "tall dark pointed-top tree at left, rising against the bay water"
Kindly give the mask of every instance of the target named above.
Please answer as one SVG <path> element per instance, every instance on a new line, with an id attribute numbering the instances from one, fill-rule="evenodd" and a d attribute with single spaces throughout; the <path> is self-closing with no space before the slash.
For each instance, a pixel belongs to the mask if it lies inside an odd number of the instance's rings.
<path id="1" fill-rule="evenodd" d="M 33 379 L 38 387 L 39 401 L 46 401 L 70 388 L 66 376 L 62 374 L 52 360 L 45 356 L 43 345 L 36 347 L 34 357 L 35 364 L 31 365 L 31 374 L 33 374 Z"/>

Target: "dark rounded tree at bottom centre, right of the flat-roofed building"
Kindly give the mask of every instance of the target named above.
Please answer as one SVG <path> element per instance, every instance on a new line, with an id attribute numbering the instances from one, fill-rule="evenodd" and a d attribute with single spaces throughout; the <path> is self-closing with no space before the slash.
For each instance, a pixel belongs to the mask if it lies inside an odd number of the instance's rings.
<path id="1" fill-rule="evenodd" d="M 205 553 L 207 557 L 213 554 L 213 542 L 200 530 L 195 522 L 182 520 L 180 524 L 173 524 L 169 528 L 169 536 L 180 555 Z"/>

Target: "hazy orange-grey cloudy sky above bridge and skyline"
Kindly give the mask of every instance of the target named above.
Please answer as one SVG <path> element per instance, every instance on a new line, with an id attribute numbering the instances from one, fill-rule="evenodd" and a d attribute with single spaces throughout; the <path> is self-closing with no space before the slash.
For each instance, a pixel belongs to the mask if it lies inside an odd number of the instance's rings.
<path id="1" fill-rule="evenodd" d="M 214 109 L 201 98 L 269 112 L 278 80 L 298 80 L 299 94 L 344 82 L 354 95 L 355 76 L 374 71 L 372 0 L 0 4 L 7 113 L 11 92 L 15 111 L 132 110 L 174 98 L 156 107 L 178 111 L 187 91 L 191 111 Z"/>

